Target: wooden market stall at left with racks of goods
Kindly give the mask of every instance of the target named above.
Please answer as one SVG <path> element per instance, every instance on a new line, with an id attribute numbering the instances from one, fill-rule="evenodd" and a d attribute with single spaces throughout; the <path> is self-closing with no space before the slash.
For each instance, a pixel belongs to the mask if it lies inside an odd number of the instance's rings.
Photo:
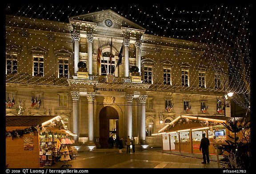
<path id="1" fill-rule="evenodd" d="M 60 116 L 6 116 L 6 167 L 40 168 L 59 156 L 59 140 L 72 134 Z"/>

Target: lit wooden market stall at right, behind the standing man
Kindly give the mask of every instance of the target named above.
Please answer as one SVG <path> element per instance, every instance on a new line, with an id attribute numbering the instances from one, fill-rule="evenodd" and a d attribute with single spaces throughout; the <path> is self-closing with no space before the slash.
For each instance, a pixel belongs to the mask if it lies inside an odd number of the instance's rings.
<path id="1" fill-rule="evenodd" d="M 209 153 L 216 154 L 216 145 L 226 144 L 229 131 L 221 123 L 231 117 L 225 116 L 179 116 L 153 135 L 162 135 L 163 150 L 200 152 L 202 134 L 210 140 Z"/>

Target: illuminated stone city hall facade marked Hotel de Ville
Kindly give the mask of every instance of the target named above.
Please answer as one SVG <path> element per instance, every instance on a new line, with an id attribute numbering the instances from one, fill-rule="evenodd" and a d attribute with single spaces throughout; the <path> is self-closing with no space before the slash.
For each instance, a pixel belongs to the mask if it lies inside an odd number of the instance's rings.
<path id="1" fill-rule="evenodd" d="M 152 134 L 180 115 L 224 116 L 202 44 L 145 31 L 112 10 L 69 23 L 6 15 L 6 116 L 60 116 L 96 148 L 111 135 L 161 147 Z"/>

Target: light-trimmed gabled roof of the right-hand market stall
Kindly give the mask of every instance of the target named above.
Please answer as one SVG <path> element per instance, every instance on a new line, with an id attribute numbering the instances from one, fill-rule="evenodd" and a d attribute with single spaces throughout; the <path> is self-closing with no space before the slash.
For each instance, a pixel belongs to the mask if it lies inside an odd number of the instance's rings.
<path id="1" fill-rule="evenodd" d="M 158 133 L 152 135 L 160 135 L 173 131 L 190 130 L 198 128 L 208 128 L 208 126 L 219 125 L 227 123 L 232 117 L 226 116 L 178 116 L 164 128 L 160 129 Z"/>

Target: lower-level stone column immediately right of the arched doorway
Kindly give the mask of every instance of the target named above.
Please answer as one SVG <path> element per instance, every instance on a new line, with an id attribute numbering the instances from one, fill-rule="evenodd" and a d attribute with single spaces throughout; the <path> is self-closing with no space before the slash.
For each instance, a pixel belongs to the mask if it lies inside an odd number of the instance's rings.
<path id="1" fill-rule="evenodd" d="M 132 101 L 133 101 L 133 94 L 126 94 L 126 101 L 127 101 L 127 114 L 126 114 L 126 128 L 127 128 L 127 136 L 132 138 Z"/>

